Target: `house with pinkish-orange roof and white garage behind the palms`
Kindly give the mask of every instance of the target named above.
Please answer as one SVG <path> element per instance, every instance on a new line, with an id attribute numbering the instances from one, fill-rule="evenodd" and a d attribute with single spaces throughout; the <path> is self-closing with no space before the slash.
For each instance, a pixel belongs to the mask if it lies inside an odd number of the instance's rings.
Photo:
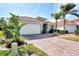
<path id="1" fill-rule="evenodd" d="M 55 29 L 55 23 L 53 23 L 53 27 Z M 73 33 L 76 31 L 77 26 L 79 27 L 79 18 L 74 19 L 72 21 L 70 20 L 65 20 L 65 29 L 68 30 L 69 33 Z M 58 21 L 58 26 L 57 29 L 59 30 L 64 30 L 64 21 Z"/>

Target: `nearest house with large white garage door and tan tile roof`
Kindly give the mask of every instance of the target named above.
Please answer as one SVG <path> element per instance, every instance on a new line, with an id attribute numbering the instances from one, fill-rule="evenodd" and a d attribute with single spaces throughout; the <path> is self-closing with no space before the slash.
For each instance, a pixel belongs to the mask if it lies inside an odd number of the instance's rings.
<path id="1" fill-rule="evenodd" d="M 19 16 L 20 22 L 26 23 L 21 30 L 20 34 L 21 35 L 26 35 L 26 34 L 40 34 L 43 29 L 43 24 L 48 23 L 48 30 L 50 29 L 51 24 L 47 22 L 46 18 L 43 17 L 28 17 L 28 16 Z"/>

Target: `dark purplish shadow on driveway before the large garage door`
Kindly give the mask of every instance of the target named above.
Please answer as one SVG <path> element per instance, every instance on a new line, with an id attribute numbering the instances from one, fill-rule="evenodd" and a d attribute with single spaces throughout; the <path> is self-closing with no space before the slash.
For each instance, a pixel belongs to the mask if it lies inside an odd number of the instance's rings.
<path id="1" fill-rule="evenodd" d="M 31 34 L 31 35 L 22 35 L 24 38 L 29 40 L 35 40 L 35 39 L 43 39 L 43 38 L 49 38 L 53 37 L 53 34 Z"/>

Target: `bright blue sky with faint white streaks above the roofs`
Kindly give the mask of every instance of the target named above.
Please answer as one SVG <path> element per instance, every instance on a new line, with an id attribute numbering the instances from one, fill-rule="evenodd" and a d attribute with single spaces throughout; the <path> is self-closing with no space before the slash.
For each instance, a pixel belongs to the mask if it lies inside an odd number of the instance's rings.
<path id="1" fill-rule="evenodd" d="M 58 12 L 60 10 L 58 3 L 0 3 L 0 17 L 10 17 L 9 12 L 19 16 L 32 16 L 32 17 L 45 17 L 51 20 L 51 13 Z M 76 8 L 79 8 L 79 4 L 76 4 Z M 75 16 L 68 15 L 67 19 L 74 19 Z"/>

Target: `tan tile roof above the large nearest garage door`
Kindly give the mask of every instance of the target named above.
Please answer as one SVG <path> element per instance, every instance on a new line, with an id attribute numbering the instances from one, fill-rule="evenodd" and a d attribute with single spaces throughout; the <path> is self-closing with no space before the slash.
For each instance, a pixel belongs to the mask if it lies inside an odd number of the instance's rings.
<path id="1" fill-rule="evenodd" d="M 46 22 L 46 18 L 43 17 L 29 17 L 29 16 L 19 16 L 20 21 L 32 23 L 32 24 L 43 24 Z M 44 20 L 45 19 L 45 20 Z"/>

